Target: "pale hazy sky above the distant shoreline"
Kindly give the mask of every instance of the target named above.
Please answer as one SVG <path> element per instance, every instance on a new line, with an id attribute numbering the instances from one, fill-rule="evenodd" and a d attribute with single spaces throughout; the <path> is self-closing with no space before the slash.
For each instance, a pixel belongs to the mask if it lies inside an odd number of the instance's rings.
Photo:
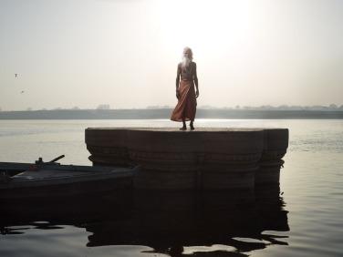
<path id="1" fill-rule="evenodd" d="M 0 0 L 0 108 L 174 106 L 183 46 L 199 106 L 343 104 L 341 0 Z"/>

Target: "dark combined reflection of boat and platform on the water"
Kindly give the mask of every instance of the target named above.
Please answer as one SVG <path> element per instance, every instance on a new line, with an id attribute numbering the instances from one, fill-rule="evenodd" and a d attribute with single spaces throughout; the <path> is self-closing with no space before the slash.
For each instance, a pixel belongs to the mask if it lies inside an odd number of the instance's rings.
<path id="1" fill-rule="evenodd" d="M 3 234 L 73 225 L 90 233 L 88 247 L 144 245 L 151 247 L 148 252 L 170 256 L 248 256 L 268 245 L 286 245 L 286 236 L 272 231 L 289 231 L 278 187 L 255 192 L 116 191 L 2 206 Z"/>

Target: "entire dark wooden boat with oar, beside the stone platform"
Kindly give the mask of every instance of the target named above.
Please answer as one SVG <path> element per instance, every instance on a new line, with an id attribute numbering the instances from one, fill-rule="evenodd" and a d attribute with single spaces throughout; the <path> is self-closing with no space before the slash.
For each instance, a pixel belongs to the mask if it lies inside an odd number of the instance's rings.
<path id="1" fill-rule="evenodd" d="M 61 159 L 60 156 L 57 159 Z M 0 162 L 0 200 L 66 197 L 132 189 L 138 168 Z"/>

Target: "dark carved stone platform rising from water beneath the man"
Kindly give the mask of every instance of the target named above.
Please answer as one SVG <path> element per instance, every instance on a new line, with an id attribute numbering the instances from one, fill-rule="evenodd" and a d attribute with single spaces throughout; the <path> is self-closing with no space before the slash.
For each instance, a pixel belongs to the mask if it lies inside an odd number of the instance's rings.
<path id="1" fill-rule="evenodd" d="M 87 128 L 94 165 L 140 164 L 137 189 L 234 189 L 278 183 L 286 128 Z"/>

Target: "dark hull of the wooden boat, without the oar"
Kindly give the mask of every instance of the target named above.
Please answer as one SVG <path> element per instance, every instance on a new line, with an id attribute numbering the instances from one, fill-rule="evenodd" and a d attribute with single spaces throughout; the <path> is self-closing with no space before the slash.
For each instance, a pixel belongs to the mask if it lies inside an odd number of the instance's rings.
<path id="1" fill-rule="evenodd" d="M 131 190 L 135 171 L 112 169 L 68 170 L 58 166 L 56 170 L 27 170 L 0 184 L 0 200 L 51 199 Z"/>

